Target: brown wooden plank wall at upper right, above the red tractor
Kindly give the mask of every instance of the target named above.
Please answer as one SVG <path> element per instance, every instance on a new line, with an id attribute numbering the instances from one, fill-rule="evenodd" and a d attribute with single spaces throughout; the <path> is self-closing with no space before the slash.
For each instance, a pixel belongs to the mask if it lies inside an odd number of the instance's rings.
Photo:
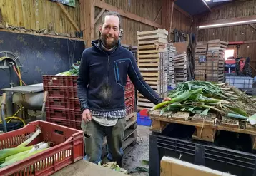
<path id="1" fill-rule="evenodd" d="M 197 16 L 197 22 L 212 21 L 218 19 L 230 19 L 239 16 L 256 15 L 256 0 L 234 2 L 223 6 L 222 9 L 210 14 Z M 256 28 L 256 24 L 252 24 Z M 249 25 L 228 26 L 212 29 L 200 29 L 198 41 L 221 39 L 222 41 L 249 41 L 256 40 L 256 30 Z M 244 44 L 239 49 L 239 56 L 250 57 L 250 64 L 256 68 L 256 43 Z M 253 76 L 256 72 L 252 70 Z"/>

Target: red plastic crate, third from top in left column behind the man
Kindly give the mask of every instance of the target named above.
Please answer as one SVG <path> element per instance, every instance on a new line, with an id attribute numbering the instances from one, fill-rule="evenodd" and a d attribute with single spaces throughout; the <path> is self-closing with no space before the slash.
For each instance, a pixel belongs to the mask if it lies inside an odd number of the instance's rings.
<path id="1" fill-rule="evenodd" d="M 46 101 L 46 108 L 71 108 L 69 98 L 49 97 Z"/>

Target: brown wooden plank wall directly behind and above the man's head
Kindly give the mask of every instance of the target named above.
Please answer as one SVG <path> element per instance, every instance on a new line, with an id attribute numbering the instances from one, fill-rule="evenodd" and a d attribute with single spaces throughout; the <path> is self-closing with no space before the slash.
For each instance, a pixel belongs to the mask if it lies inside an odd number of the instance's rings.
<path id="1" fill-rule="evenodd" d="M 159 0 L 132 0 L 130 1 L 130 6 L 128 1 L 119 1 L 119 0 L 105 0 L 107 4 L 112 6 L 117 6 L 119 9 L 124 11 L 129 11 L 132 14 L 142 16 L 146 19 L 154 21 L 157 16 L 158 11 L 162 7 L 162 1 Z M 95 18 L 99 14 L 101 9 L 95 8 Z M 99 37 L 99 24 L 101 18 L 95 24 L 95 38 Z M 158 24 L 162 24 L 162 16 L 159 15 L 157 21 Z M 139 23 L 132 19 L 127 19 L 122 17 L 122 29 L 124 30 L 122 43 L 132 46 L 137 46 L 137 31 L 151 31 L 154 30 L 154 27 L 148 26 L 147 24 Z"/>

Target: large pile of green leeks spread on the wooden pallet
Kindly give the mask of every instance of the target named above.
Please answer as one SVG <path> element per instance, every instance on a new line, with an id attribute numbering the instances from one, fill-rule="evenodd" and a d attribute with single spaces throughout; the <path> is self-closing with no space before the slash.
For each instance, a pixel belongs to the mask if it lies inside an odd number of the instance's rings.
<path id="1" fill-rule="evenodd" d="M 160 115 L 170 111 L 207 115 L 212 111 L 229 118 L 249 121 L 251 125 L 256 124 L 256 106 L 253 100 L 237 88 L 228 86 L 227 83 L 187 81 L 179 83 L 168 96 L 172 100 L 155 105 L 149 113 L 161 109 Z"/>

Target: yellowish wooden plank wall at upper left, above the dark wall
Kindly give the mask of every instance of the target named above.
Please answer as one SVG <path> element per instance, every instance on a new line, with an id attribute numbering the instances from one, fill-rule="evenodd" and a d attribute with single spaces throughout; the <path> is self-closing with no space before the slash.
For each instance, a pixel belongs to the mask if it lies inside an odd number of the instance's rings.
<path id="1" fill-rule="evenodd" d="M 80 26 L 79 0 L 76 7 L 65 6 L 72 19 Z M 58 33 L 73 33 L 75 30 L 56 2 L 49 0 L 1 0 L 3 19 L 12 26 L 26 29 L 46 29 L 49 23 Z"/>

